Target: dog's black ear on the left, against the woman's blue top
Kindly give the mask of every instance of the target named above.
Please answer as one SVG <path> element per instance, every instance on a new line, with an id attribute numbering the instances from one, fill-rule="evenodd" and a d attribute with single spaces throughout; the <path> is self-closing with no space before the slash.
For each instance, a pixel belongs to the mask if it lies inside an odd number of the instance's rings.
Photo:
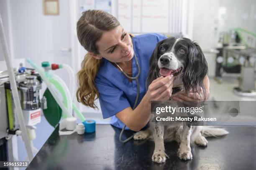
<path id="1" fill-rule="evenodd" d="M 146 89 L 148 90 L 148 86 L 151 84 L 153 80 L 160 76 L 159 72 L 160 69 L 158 67 L 158 55 L 159 55 L 159 46 L 164 42 L 164 40 L 157 43 L 153 54 L 151 55 L 150 62 L 149 62 L 149 71 L 148 77 L 146 80 Z"/>

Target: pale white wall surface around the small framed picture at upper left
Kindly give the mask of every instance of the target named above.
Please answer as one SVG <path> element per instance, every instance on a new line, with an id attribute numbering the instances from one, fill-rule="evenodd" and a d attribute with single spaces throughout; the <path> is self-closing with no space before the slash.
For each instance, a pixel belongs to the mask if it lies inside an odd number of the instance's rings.
<path id="1" fill-rule="evenodd" d="M 14 58 L 30 57 L 42 61 L 69 63 L 69 55 L 61 48 L 70 48 L 69 2 L 60 0 L 60 15 L 44 15 L 43 1 L 10 1 Z"/>

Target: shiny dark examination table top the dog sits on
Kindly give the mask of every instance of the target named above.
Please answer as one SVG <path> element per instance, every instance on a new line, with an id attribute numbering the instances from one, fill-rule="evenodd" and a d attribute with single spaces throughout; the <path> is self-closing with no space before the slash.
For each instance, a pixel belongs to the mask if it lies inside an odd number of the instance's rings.
<path id="1" fill-rule="evenodd" d="M 149 140 L 119 142 L 120 129 L 96 125 L 96 133 L 59 136 L 57 127 L 27 170 L 256 170 L 256 127 L 226 127 L 229 134 L 207 138 L 206 148 L 192 145 L 193 159 L 179 160 L 176 142 L 165 143 L 170 157 L 164 164 L 151 161 Z M 133 132 L 125 131 L 123 137 Z"/>

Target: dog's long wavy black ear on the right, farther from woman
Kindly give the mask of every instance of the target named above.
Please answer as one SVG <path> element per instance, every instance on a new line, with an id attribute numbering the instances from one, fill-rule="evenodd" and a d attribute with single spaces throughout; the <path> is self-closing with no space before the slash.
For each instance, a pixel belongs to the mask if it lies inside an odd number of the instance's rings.
<path id="1" fill-rule="evenodd" d="M 202 87 L 203 95 L 206 96 L 204 78 L 207 73 L 207 62 L 200 46 L 195 42 L 189 43 L 188 63 L 182 77 L 184 90 L 200 93 Z"/>

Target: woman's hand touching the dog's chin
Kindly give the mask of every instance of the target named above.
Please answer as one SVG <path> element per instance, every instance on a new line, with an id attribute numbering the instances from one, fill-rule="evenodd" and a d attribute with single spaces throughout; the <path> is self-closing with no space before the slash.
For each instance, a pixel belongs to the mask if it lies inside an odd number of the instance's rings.
<path id="1" fill-rule="evenodd" d="M 158 77 L 148 86 L 146 95 L 151 101 L 165 102 L 172 96 L 173 75 Z"/>

